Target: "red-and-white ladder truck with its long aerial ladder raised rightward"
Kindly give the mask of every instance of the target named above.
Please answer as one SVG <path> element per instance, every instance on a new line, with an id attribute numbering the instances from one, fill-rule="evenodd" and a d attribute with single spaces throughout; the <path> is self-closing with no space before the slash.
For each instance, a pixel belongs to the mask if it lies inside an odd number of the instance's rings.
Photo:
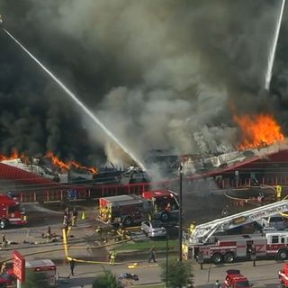
<path id="1" fill-rule="evenodd" d="M 203 259 L 212 263 L 231 263 L 240 257 L 250 257 L 250 249 L 254 245 L 257 257 L 273 256 L 284 260 L 288 257 L 288 230 L 263 230 L 261 234 L 247 235 L 214 235 L 216 232 L 234 229 L 284 211 L 288 211 L 287 200 L 195 226 L 189 233 L 184 232 L 184 251 L 188 253 L 185 258 L 197 257 L 201 252 Z"/>

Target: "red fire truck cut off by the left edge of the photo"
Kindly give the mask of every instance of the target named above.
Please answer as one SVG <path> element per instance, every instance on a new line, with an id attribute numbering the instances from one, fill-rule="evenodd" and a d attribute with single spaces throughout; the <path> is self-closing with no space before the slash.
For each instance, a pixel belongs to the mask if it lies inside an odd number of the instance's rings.
<path id="1" fill-rule="evenodd" d="M 0 194 L 0 229 L 9 225 L 23 225 L 27 220 L 20 203 L 6 194 Z"/>

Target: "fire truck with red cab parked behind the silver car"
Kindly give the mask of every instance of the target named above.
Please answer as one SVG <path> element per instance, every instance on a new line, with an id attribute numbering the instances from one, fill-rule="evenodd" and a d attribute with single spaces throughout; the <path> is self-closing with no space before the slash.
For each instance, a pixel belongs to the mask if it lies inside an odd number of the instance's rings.
<path id="1" fill-rule="evenodd" d="M 99 199 L 99 218 L 105 223 L 124 227 L 154 219 L 174 223 L 179 203 L 170 190 L 145 191 L 139 195 L 118 195 Z"/>

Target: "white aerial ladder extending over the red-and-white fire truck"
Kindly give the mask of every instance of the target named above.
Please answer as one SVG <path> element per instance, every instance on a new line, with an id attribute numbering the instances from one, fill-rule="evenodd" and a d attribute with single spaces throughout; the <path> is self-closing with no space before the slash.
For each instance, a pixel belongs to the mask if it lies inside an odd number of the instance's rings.
<path id="1" fill-rule="evenodd" d="M 190 233 L 184 233 L 184 242 L 186 242 L 188 246 L 206 244 L 210 242 L 211 236 L 216 232 L 234 229 L 284 211 L 288 211 L 288 200 L 274 202 L 224 218 L 211 220 L 210 222 L 195 226 L 190 230 Z"/>

